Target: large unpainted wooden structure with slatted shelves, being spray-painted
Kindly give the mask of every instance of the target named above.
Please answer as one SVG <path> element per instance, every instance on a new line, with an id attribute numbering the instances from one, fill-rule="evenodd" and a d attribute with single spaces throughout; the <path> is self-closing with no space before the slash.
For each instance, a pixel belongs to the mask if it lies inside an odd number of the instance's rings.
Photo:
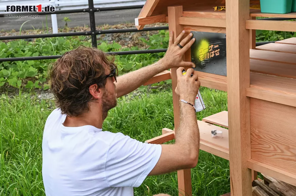
<path id="1" fill-rule="evenodd" d="M 251 196 L 257 171 L 296 185 L 296 38 L 256 47 L 256 29 L 296 32 L 296 22 L 256 20 L 256 17 L 296 18 L 296 13 L 268 14 L 253 0 L 147 0 L 136 26 L 168 23 L 174 38 L 182 30 L 226 34 L 227 75 L 197 72 L 201 86 L 227 91 L 228 112 L 198 121 L 200 149 L 230 161 L 231 195 Z M 215 6 L 225 10 L 214 11 Z M 191 60 L 191 50 L 184 55 Z M 172 79 L 176 69 L 154 76 L 146 84 Z M 179 97 L 173 90 L 175 130 L 179 125 Z M 223 138 L 211 137 L 219 128 Z M 146 142 L 174 139 L 164 128 Z M 191 195 L 191 170 L 178 171 L 179 195 Z"/>

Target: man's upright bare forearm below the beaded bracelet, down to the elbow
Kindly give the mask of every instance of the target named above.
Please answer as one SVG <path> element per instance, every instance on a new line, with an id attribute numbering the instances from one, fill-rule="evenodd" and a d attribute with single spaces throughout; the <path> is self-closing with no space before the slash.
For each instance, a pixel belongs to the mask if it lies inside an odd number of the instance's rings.
<path id="1" fill-rule="evenodd" d="M 188 100 L 194 104 L 194 100 Z M 184 150 L 190 150 L 198 157 L 199 152 L 199 129 L 196 113 L 193 106 L 180 102 L 180 125 L 175 133 L 175 143 L 182 145 Z"/>

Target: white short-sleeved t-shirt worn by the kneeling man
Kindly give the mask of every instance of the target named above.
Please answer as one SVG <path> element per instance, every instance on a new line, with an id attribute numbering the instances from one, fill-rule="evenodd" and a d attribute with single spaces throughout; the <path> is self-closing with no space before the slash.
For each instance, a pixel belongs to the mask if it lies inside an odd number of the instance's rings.
<path id="1" fill-rule="evenodd" d="M 42 176 L 47 196 L 131 196 L 154 168 L 161 145 L 91 125 L 65 127 L 55 109 L 42 141 Z"/>

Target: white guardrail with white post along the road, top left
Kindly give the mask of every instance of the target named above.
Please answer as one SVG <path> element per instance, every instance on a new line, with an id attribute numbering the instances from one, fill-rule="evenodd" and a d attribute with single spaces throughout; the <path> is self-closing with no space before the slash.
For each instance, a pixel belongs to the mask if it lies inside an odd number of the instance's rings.
<path id="1" fill-rule="evenodd" d="M 146 0 L 94 0 L 95 8 L 110 8 L 117 6 L 144 5 Z M 21 12 L 6 12 L 7 5 L 42 5 L 53 6 L 55 10 L 74 10 L 88 8 L 88 0 L 0 0 L 0 14 L 17 14 Z M 58 33 L 56 14 L 51 14 L 53 33 Z"/>

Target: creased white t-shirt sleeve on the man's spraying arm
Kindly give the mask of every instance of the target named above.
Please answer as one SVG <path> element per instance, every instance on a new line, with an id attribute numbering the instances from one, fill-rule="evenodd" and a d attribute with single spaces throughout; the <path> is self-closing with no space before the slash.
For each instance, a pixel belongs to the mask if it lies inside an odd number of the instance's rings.
<path id="1" fill-rule="evenodd" d="M 161 145 L 146 144 L 122 133 L 111 142 L 105 166 L 110 187 L 138 187 L 155 167 Z"/>

